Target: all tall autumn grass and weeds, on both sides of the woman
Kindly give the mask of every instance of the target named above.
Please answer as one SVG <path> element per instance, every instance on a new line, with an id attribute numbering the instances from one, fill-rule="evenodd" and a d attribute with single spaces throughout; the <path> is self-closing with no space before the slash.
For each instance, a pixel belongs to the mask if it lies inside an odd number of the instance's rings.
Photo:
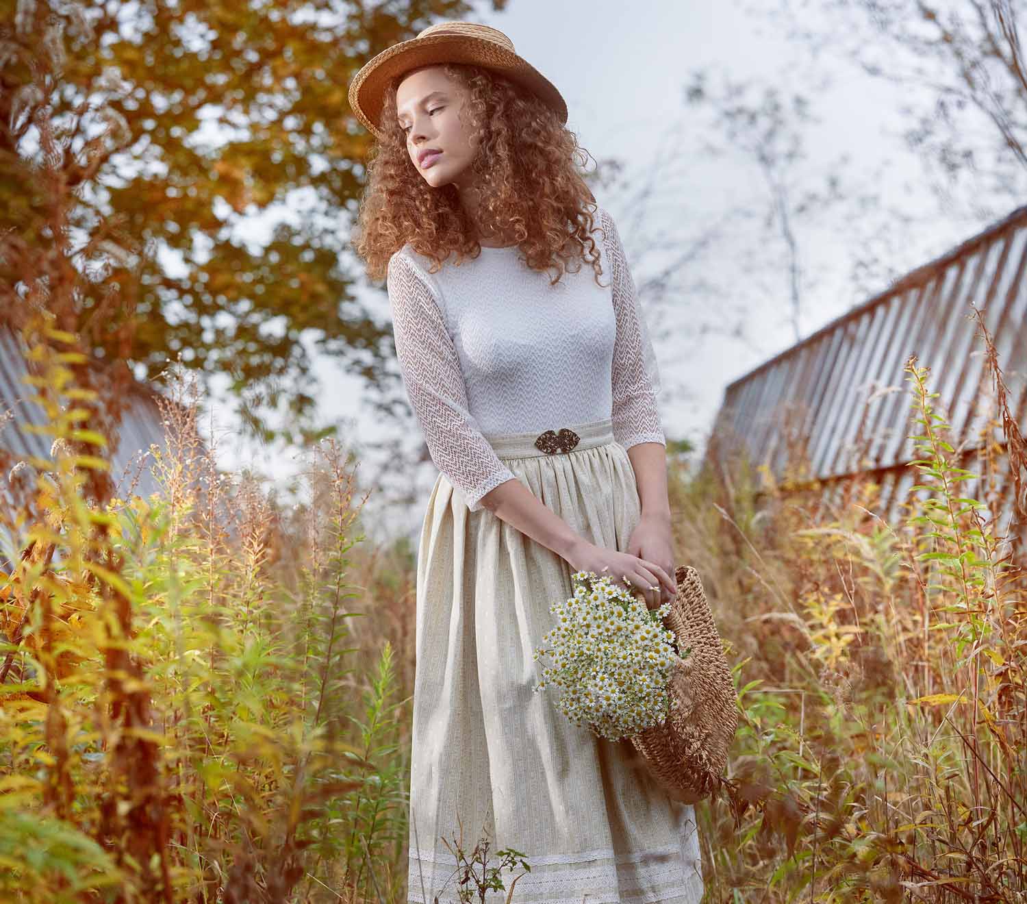
<path id="1" fill-rule="evenodd" d="M 915 359 L 919 480 L 890 523 L 868 476 L 826 504 L 801 456 L 778 482 L 672 472 L 741 713 L 736 791 L 697 808 L 707 901 L 1024 900 L 1027 587 L 994 484 L 1012 467 L 1027 523 L 1027 444 L 980 333 L 980 499 Z M 5 476 L 0 898 L 406 900 L 409 542 L 362 549 L 335 442 L 296 509 L 219 472 L 185 381 L 161 403 L 159 492 L 105 497 L 76 339 L 42 318 L 25 337 L 52 448 Z M 488 840 L 453 840 L 455 894 L 518 900 L 529 862 L 500 875 Z"/>

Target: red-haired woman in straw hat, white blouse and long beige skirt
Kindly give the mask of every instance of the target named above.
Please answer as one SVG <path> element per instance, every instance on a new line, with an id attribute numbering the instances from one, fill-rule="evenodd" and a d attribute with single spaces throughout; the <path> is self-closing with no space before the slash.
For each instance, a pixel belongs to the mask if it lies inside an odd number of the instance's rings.
<path id="1" fill-rule="evenodd" d="M 575 571 L 650 608 L 676 591 L 652 344 L 566 105 L 472 23 L 379 53 L 349 98 L 378 139 L 353 244 L 386 278 L 440 470 L 417 562 L 409 901 L 459 900 L 444 839 L 462 824 L 467 852 L 487 836 L 524 854 L 518 902 L 697 902 L 692 807 L 533 689 Z"/>

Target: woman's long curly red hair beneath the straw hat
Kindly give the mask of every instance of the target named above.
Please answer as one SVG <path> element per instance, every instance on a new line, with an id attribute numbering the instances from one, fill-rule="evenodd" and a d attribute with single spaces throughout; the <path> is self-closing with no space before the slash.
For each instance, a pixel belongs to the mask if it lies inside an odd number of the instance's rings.
<path id="1" fill-rule="evenodd" d="M 541 100 L 520 85 L 478 66 L 439 64 L 468 92 L 465 109 L 481 142 L 471 164 L 482 190 L 479 216 L 497 234 L 517 236 L 527 265 L 555 268 L 556 284 L 571 261 L 602 268 L 592 236 L 596 199 L 574 166 L 588 152 Z M 418 67 L 425 69 L 427 67 Z M 384 138 L 372 150 L 351 246 L 371 279 L 384 279 L 389 258 L 410 242 L 438 272 L 451 253 L 456 262 L 477 258 L 481 244 L 454 185 L 433 188 L 417 172 L 395 110 L 395 92 L 411 72 L 392 79 L 385 92 L 380 127 Z M 589 210 L 591 208 L 591 210 Z"/>

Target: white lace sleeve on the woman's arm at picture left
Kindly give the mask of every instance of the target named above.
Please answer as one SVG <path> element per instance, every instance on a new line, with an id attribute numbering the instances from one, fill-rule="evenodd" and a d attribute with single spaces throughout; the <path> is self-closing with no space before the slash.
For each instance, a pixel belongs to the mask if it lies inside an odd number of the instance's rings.
<path id="1" fill-rule="evenodd" d="M 460 360 L 429 287 L 398 253 L 389 260 L 386 285 L 400 371 L 428 453 L 467 507 L 478 512 L 482 496 L 517 477 L 467 409 Z"/>

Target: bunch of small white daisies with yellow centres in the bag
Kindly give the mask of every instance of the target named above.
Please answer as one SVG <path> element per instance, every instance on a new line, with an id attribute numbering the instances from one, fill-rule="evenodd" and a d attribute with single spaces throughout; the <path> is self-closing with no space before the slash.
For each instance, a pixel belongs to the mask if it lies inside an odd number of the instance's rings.
<path id="1" fill-rule="evenodd" d="M 680 662 L 675 634 L 663 627 L 670 603 L 645 601 L 594 571 L 571 575 L 574 596 L 549 611 L 556 626 L 542 638 L 535 661 L 548 656 L 542 681 L 563 688 L 557 708 L 575 725 L 588 724 L 619 741 L 660 724 L 668 716 L 668 683 Z"/>

